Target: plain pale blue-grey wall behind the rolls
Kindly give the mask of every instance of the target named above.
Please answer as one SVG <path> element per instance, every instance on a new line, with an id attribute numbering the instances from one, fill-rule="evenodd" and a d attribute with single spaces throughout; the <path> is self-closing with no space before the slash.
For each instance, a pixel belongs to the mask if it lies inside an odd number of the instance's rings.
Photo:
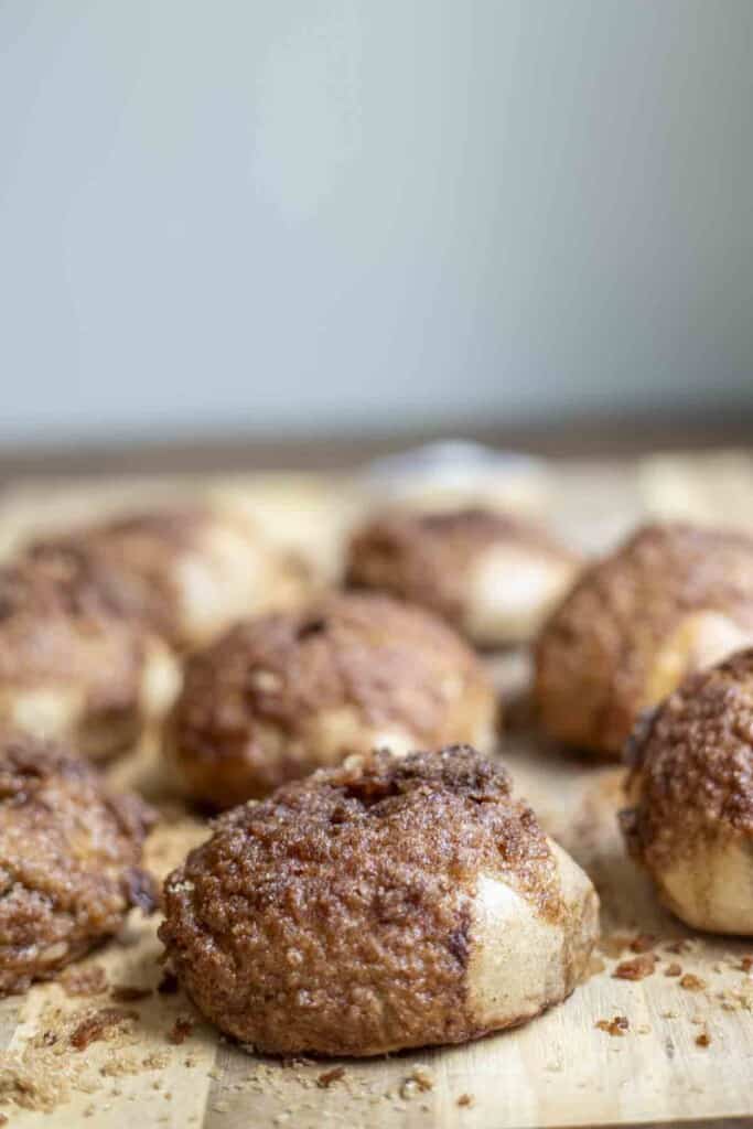
<path id="1" fill-rule="evenodd" d="M 0 440 L 753 396 L 753 0 L 5 0 Z"/>

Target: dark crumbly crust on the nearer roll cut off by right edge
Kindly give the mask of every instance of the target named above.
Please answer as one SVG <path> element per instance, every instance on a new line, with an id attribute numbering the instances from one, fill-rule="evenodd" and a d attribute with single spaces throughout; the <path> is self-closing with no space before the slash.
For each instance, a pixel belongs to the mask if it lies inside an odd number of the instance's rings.
<path id="1" fill-rule="evenodd" d="M 686 679 L 637 726 L 629 753 L 636 806 L 621 823 L 649 869 L 723 831 L 753 839 L 753 649 Z"/>

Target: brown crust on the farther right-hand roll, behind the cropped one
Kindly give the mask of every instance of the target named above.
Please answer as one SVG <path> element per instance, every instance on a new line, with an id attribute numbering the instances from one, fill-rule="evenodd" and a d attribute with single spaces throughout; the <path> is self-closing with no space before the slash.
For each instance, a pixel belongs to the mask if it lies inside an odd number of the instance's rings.
<path id="1" fill-rule="evenodd" d="M 753 540 L 690 525 L 639 530 L 584 574 L 541 633 L 536 699 L 544 728 L 619 755 L 660 646 L 699 612 L 753 630 Z"/>

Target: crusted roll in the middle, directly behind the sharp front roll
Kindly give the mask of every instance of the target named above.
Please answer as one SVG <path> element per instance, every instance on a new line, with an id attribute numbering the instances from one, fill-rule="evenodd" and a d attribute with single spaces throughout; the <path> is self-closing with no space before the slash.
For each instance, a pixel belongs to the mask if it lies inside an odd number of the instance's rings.
<path id="1" fill-rule="evenodd" d="M 334 595 L 192 655 L 165 750 L 191 797 L 230 807 L 352 752 L 489 747 L 497 710 L 450 628 L 387 596 Z"/>

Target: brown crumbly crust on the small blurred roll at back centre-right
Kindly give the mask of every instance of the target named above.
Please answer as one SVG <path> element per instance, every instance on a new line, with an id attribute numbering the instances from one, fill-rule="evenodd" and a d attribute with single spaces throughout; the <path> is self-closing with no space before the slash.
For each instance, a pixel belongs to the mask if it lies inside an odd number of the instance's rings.
<path id="1" fill-rule="evenodd" d="M 456 627 L 465 620 L 466 578 L 493 545 L 522 546 L 554 561 L 577 560 L 531 522 L 490 509 L 389 511 L 351 540 L 345 581 L 430 607 Z"/>

